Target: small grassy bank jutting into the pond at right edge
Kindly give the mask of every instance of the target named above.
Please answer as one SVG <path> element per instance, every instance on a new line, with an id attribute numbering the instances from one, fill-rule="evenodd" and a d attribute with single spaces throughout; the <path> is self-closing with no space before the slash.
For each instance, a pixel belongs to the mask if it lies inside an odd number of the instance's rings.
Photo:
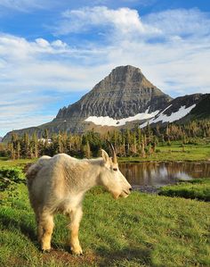
<path id="1" fill-rule="evenodd" d="M 210 178 L 192 179 L 178 185 L 163 187 L 160 189 L 159 195 L 210 201 Z"/>

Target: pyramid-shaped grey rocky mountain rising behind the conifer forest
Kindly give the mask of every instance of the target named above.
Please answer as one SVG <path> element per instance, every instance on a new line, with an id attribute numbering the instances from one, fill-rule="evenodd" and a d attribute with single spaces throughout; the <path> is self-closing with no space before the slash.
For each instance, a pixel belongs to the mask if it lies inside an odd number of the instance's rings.
<path id="1" fill-rule="evenodd" d="M 76 103 L 61 108 L 52 121 L 37 127 L 14 130 L 14 132 L 19 135 L 28 132 L 32 135 L 36 130 L 37 135 L 41 137 L 44 129 L 48 129 L 51 134 L 59 131 L 82 133 L 88 129 L 97 131 L 121 129 L 133 127 L 133 123 L 142 125 L 148 120 L 152 122 L 154 118 L 158 118 L 158 114 L 166 118 L 172 113 L 177 113 L 181 108 L 180 113 L 185 110 L 185 116 L 190 118 L 187 108 L 197 105 L 205 97 L 207 96 L 193 94 L 173 99 L 146 79 L 139 68 L 131 65 L 118 66 Z M 170 104 L 171 107 L 169 107 Z M 201 104 L 199 110 L 202 106 Z M 207 108 L 208 101 L 203 111 L 208 117 Z M 189 113 L 193 113 L 193 110 L 192 106 Z M 197 116 L 198 111 L 194 112 L 193 118 Z M 8 140 L 11 134 L 12 132 L 7 133 L 4 141 Z"/>

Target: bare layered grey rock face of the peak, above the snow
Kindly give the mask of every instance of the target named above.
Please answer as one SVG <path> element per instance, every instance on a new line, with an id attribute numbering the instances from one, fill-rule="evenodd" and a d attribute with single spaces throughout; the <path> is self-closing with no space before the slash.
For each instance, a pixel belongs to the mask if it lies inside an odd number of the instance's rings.
<path id="1" fill-rule="evenodd" d="M 77 103 L 60 110 L 54 121 L 109 116 L 122 119 L 160 110 L 172 98 L 164 94 L 133 66 L 120 66 L 111 71 Z"/>

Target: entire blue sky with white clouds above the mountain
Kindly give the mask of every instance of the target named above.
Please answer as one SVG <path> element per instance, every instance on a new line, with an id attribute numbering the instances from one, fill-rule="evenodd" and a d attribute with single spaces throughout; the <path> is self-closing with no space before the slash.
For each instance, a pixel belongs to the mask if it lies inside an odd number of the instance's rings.
<path id="1" fill-rule="evenodd" d="M 126 64 L 170 96 L 210 93 L 210 1 L 1 0 L 0 136 Z"/>

